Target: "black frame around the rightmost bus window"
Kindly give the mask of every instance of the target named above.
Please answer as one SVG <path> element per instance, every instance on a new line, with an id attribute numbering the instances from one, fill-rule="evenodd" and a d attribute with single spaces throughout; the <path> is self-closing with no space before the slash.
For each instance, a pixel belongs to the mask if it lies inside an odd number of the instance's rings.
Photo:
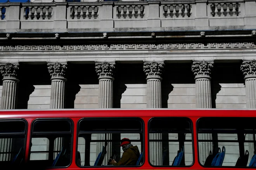
<path id="1" fill-rule="evenodd" d="M 238 169 L 255 169 L 256 167 L 240 167 L 240 166 L 204 166 L 204 165 L 202 165 L 201 163 L 200 163 L 200 160 L 199 160 L 199 139 L 198 139 L 198 131 L 199 131 L 199 120 L 201 119 L 201 118 L 255 118 L 255 117 L 213 117 L 213 116 L 211 116 L 211 117 L 199 117 L 197 120 L 196 120 L 196 124 L 195 124 L 195 126 L 196 126 L 196 138 L 197 138 L 197 161 L 198 161 L 198 163 L 199 163 L 199 165 L 201 166 L 201 167 L 203 167 L 203 168 L 232 168 L 232 169 L 236 169 L 236 168 L 238 168 Z M 255 135 L 256 135 L 256 133 L 255 133 Z M 237 143 L 238 143 L 238 140 L 237 140 Z M 221 148 L 222 149 L 222 148 Z M 222 151 L 222 150 L 221 150 Z M 250 154 L 250 153 L 249 153 Z M 209 156 L 209 155 L 208 155 Z M 207 156 L 207 157 L 208 157 Z M 206 157 L 206 158 L 207 158 Z M 250 162 L 251 160 L 249 160 L 248 159 L 248 162 Z M 247 162 L 247 163 L 248 163 Z"/>

